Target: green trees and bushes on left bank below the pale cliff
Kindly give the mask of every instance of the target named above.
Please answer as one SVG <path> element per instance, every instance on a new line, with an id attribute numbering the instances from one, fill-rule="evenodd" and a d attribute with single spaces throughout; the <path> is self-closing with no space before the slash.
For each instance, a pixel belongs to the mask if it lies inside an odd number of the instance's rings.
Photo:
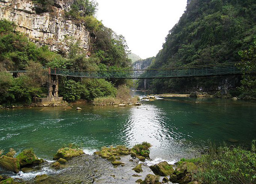
<path id="1" fill-rule="evenodd" d="M 95 9 L 96 7 L 87 14 L 92 19 L 95 19 L 91 16 Z M 47 46 L 36 46 L 24 34 L 14 30 L 15 25 L 12 22 L 0 21 L 0 71 L 2 71 L 0 72 L 0 104 L 30 104 L 33 97 L 46 97 L 47 71 L 42 66 L 74 70 L 116 70 L 128 68 L 131 63 L 128 59 L 125 39 L 103 25 L 97 31 L 94 30 L 97 39 L 91 57 L 79 48 L 79 40 L 71 37 L 66 38 L 70 50 L 68 57 L 64 57 L 49 51 Z M 25 69 L 31 72 L 18 78 L 13 78 L 11 74 L 5 72 Z M 59 81 L 60 95 L 67 101 L 79 99 L 91 101 L 97 97 L 115 97 L 115 86 L 128 82 L 128 80 L 107 81 L 71 77 L 60 77 Z"/>

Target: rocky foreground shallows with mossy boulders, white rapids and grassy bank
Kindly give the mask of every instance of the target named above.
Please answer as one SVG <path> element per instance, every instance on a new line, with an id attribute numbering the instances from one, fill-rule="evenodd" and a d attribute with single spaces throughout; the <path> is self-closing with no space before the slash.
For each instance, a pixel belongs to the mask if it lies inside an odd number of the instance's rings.
<path id="1" fill-rule="evenodd" d="M 255 140 L 250 151 L 234 146 L 217 149 L 211 144 L 203 155 L 178 162 L 150 159 L 151 145 L 147 142 L 132 148 L 103 147 L 93 155 L 69 144 L 57 151 L 54 161 L 38 159 L 32 149 L 13 157 L 15 151 L 11 150 L 12 154 L 0 158 L 4 168 L 0 170 L 0 184 L 252 184 L 256 182 L 255 146 Z"/>

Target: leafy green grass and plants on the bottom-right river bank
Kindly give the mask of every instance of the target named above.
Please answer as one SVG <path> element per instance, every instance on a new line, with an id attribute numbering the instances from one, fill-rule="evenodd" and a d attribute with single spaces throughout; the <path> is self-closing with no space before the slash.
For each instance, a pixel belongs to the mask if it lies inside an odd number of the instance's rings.
<path id="1" fill-rule="evenodd" d="M 193 177 L 205 184 L 255 184 L 256 140 L 251 150 L 241 147 L 216 146 L 211 144 L 208 154 L 200 158 L 182 159 L 199 166 Z"/>

